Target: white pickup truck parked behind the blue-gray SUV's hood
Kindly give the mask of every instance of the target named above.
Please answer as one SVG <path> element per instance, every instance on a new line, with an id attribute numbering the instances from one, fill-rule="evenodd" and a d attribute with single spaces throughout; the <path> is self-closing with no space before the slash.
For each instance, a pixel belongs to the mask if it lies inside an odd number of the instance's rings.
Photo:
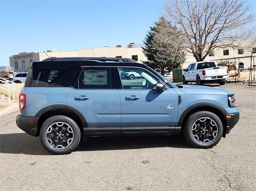
<path id="1" fill-rule="evenodd" d="M 219 83 L 224 85 L 228 78 L 228 67 L 218 67 L 213 61 L 192 63 L 182 73 L 182 83 L 196 82 L 196 85 L 204 83 Z"/>

